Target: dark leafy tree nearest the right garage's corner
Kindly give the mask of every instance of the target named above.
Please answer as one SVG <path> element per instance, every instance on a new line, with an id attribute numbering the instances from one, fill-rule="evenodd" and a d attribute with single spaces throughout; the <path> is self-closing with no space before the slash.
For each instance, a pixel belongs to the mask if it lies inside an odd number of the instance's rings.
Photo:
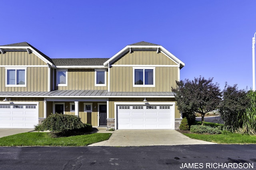
<path id="1" fill-rule="evenodd" d="M 216 109 L 221 101 L 220 87 L 212 80 L 200 76 L 191 81 L 176 81 L 176 89 L 172 88 L 172 91 L 176 93 L 175 99 L 181 113 L 198 112 L 202 115 L 203 124 L 204 115 Z"/>

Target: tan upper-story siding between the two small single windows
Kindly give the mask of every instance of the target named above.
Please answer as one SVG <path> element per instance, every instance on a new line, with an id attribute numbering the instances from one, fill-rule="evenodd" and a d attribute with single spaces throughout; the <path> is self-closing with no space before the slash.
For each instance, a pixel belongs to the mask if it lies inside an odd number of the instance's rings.
<path id="1" fill-rule="evenodd" d="M 56 76 L 56 72 L 55 72 Z M 108 81 L 108 73 L 107 78 Z M 108 84 L 108 82 L 106 82 Z M 56 86 L 58 90 L 108 90 L 106 86 L 95 86 L 94 69 L 68 69 L 68 86 Z"/>

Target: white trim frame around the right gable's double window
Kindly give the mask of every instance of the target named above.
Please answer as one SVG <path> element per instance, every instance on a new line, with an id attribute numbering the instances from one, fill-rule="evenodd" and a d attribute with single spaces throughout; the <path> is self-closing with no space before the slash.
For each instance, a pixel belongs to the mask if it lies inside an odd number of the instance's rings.
<path id="1" fill-rule="evenodd" d="M 143 70 L 143 78 L 145 78 L 145 70 L 152 69 L 153 70 L 153 84 L 135 84 L 135 70 L 141 69 Z M 132 86 L 133 87 L 155 87 L 156 86 L 156 67 L 132 67 Z M 145 80 L 143 81 L 145 83 Z"/>

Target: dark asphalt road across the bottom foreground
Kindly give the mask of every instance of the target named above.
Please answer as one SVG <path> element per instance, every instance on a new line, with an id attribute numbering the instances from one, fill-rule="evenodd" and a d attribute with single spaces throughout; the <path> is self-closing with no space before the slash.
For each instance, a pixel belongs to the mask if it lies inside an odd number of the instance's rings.
<path id="1" fill-rule="evenodd" d="M 256 145 L 0 147 L 1 170 L 253 168 L 256 168 Z"/>

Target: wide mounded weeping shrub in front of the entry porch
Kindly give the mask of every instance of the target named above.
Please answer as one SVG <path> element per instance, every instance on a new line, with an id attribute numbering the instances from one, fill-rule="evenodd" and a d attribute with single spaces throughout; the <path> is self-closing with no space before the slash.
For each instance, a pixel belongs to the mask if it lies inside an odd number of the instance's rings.
<path id="1" fill-rule="evenodd" d="M 35 126 L 36 131 L 55 131 L 65 133 L 73 129 L 87 131 L 89 125 L 82 123 L 80 118 L 75 115 L 64 115 L 55 113 L 44 119 L 42 124 Z"/>

